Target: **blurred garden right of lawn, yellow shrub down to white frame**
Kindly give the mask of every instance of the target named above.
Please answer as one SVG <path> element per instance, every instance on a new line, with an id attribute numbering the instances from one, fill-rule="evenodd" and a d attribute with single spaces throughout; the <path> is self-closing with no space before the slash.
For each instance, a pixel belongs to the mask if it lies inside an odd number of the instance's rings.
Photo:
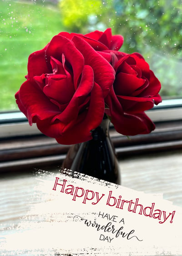
<path id="1" fill-rule="evenodd" d="M 145 57 L 162 96 L 182 96 L 182 0 L 61 0 L 59 6 L 67 31 L 111 27 L 124 37 L 122 52 Z"/>

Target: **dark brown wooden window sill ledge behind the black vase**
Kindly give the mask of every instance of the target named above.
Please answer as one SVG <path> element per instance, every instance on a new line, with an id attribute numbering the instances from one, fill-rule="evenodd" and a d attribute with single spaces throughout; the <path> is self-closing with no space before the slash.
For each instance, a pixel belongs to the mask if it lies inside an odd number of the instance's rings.
<path id="1" fill-rule="evenodd" d="M 110 129 L 118 158 L 182 149 L 182 120 L 156 122 L 147 135 L 126 136 Z M 0 172 L 61 166 L 70 146 L 60 145 L 44 135 L 19 136 L 0 141 Z"/>

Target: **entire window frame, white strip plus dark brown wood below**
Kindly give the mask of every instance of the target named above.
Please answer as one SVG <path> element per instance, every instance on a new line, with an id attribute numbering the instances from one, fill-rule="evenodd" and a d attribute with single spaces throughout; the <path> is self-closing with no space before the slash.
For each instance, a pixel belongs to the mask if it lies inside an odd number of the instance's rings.
<path id="1" fill-rule="evenodd" d="M 128 139 L 111 125 L 110 137 L 118 159 L 182 150 L 182 99 L 164 100 L 146 113 L 156 125 L 149 134 Z M 43 135 L 19 111 L 0 115 L 1 174 L 61 167 L 70 145 L 58 144 L 54 138 Z"/>

